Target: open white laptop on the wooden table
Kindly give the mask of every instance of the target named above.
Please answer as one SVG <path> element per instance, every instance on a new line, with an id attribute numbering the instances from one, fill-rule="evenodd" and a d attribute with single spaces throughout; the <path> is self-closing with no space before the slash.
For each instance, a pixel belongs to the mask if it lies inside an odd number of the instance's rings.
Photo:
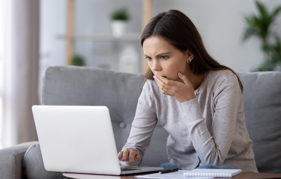
<path id="1" fill-rule="evenodd" d="M 47 171 L 123 175 L 163 170 L 120 166 L 106 106 L 34 105 L 32 112 Z"/>

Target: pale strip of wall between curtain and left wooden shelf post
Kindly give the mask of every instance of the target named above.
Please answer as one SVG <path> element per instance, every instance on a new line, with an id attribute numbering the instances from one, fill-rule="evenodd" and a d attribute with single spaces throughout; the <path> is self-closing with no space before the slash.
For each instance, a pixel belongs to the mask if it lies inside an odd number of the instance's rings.
<path id="1" fill-rule="evenodd" d="M 66 0 L 40 0 L 39 8 L 38 95 L 41 99 L 41 81 L 45 70 L 49 66 L 65 64 L 66 43 L 57 35 L 66 33 Z"/>

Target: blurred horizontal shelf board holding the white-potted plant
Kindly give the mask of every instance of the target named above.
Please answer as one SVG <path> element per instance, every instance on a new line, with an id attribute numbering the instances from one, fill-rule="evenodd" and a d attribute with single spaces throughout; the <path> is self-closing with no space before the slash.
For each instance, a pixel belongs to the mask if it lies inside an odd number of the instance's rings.
<path id="1" fill-rule="evenodd" d="M 126 34 L 120 37 L 113 37 L 111 34 L 76 34 L 72 37 L 72 40 L 90 40 L 98 42 L 139 42 L 140 34 Z M 66 35 L 57 35 L 58 39 L 66 39 Z"/>

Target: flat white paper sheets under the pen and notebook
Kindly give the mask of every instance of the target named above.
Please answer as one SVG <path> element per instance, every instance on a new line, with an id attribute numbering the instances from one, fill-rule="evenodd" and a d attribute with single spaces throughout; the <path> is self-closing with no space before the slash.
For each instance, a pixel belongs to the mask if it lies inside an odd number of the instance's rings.
<path id="1" fill-rule="evenodd" d="M 155 178 L 155 179 L 209 179 L 210 177 L 186 177 L 183 175 L 184 172 L 188 170 L 178 170 L 176 172 L 169 172 L 165 174 L 154 173 L 147 175 L 137 175 L 137 178 Z"/>

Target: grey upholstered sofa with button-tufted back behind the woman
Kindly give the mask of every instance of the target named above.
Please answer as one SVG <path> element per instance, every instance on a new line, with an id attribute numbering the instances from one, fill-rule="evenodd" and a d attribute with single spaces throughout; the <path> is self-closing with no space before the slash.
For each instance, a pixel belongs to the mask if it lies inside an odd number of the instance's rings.
<path id="1" fill-rule="evenodd" d="M 257 168 L 259 172 L 281 173 L 281 72 L 239 72 L 238 75 L 244 86 L 246 123 L 254 142 Z M 41 104 L 107 106 L 120 151 L 130 132 L 143 80 L 141 74 L 92 67 L 50 67 L 43 79 Z M 167 137 L 168 133 L 157 124 L 142 166 L 168 162 Z M 1 179 L 26 178 L 24 170 L 32 171 L 29 169 L 34 166 L 24 161 L 29 159 L 24 155 L 36 142 L 0 150 Z"/>

